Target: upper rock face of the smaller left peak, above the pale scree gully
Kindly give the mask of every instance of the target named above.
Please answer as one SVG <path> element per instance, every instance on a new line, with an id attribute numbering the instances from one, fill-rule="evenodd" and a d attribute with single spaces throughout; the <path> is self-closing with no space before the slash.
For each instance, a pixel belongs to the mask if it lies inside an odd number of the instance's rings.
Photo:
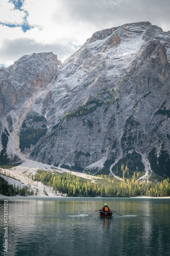
<path id="1" fill-rule="evenodd" d="M 60 62 L 53 53 L 33 53 L 21 57 L 9 68 L 0 68 L 0 115 L 46 89 L 57 77 L 58 65 Z"/>

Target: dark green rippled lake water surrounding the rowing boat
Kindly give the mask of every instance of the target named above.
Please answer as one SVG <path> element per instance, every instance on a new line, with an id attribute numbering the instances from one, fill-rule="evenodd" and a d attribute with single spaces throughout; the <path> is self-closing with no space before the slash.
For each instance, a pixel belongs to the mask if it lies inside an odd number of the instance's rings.
<path id="1" fill-rule="evenodd" d="M 8 198 L 8 253 L 0 202 L 2 255 L 170 255 L 170 199 Z M 123 217 L 87 216 L 104 203 Z"/>

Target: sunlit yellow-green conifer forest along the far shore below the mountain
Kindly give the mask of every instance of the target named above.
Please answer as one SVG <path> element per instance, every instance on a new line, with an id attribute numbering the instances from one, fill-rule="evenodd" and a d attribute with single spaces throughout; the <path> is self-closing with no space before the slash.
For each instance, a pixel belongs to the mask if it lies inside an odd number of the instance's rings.
<path id="1" fill-rule="evenodd" d="M 59 191 L 68 197 L 167 197 L 170 196 L 169 178 L 154 181 L 138 180 L 139 173 L 135 173 L 132 179 L 115 179 L 113 176 L 99 175 L 98 179 L 87 180 L 69 173 L 59 173 L 54 170 L 50 173 L 46 170 L 37 170 L 32 179 L 40 181 L 44 185 L 53 187 L 54 193 Z"/>

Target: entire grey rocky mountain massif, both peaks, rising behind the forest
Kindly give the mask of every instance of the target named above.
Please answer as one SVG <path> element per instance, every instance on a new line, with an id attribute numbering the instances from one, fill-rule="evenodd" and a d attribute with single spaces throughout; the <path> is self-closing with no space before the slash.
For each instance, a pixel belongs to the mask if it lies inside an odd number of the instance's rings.
<path id="1" fill-rule="evenodd" d="M 0 69 L 1 163 L 23 156 L 90 173 L 170 174 L 170 32 L 149 22 L 95 32 Z"/>

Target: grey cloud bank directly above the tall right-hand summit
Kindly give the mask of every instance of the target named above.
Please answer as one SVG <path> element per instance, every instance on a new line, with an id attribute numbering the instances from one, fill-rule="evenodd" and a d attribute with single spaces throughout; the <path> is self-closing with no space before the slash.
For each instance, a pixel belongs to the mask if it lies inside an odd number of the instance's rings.
<path id="1" fill-rule="evenodd" d="M 149 21 L 153 25 L 170 26 L 169 0 L 62 0 L 63 23 L 85 23 L 95 30 L 121 26 L 126 23 Z M 57 9 L 55 10 L 57 12 Z M 60 15 L 60 14 L 59 14 Z M 57 21 L 58 15 L 54 14 Z"/>

